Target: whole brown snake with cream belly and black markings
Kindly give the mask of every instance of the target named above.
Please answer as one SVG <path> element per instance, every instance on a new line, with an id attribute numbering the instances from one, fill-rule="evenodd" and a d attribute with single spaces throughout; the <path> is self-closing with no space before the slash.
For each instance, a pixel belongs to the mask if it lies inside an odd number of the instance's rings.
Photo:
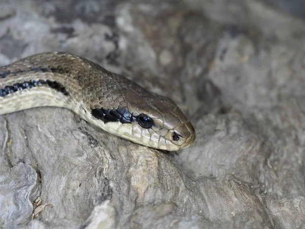
<path id="1" fill-rule="evenodd" d="M 195 129 L 169 98 L 68 52 L 44 52 L 0 67 L 0 115 L 35 107 L 74 111 L 107 133 L 146 147 L 178 151 Z"/>

